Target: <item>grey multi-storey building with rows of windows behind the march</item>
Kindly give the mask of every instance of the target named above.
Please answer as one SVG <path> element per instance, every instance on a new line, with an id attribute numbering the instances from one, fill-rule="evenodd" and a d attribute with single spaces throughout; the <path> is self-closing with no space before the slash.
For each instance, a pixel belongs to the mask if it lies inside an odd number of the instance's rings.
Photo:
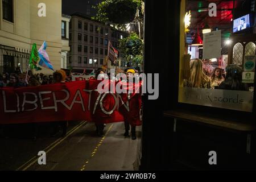
<path id="1" fill-rule="evenodd" d="M 78 73 L 91 73 L 95 69 L 102 68 L 108 57 L 109 41 L 118 49 L 119 39 L 127 36 L 127 32 L 104 26 L 88 15 L 73 14 L 69 24 L 71 51 L 68 53 L 68 67 Z M 116 65 L 108 61 L 108 70 L 111 68 L 125 69 L 126 63 L 118 57 Z"/>

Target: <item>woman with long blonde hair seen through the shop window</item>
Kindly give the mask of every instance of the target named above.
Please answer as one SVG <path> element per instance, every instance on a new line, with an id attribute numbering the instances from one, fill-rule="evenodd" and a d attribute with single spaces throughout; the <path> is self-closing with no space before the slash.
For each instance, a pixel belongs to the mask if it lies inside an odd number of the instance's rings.
<path id="1" fill-rule="evenodd" d="M 190 71 L 191 76 L 189 80 L 184 80 L 184 87 L 212 88 L 210 78 L 204 73 L 202 60 L 192 59 L 190 61 Z"/>

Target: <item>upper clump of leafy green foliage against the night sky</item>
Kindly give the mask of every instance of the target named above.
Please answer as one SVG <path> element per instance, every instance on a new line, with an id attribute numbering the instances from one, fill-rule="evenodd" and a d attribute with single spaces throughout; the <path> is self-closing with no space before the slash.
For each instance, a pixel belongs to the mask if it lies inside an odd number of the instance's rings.
<path id="1" fill-rule="evenodd" d="M 94 19 L 102 23 L 127 24 L 133 22 L 141 5 L 141 0 L 105 0 L 94 6 L 97 10 Z"/>

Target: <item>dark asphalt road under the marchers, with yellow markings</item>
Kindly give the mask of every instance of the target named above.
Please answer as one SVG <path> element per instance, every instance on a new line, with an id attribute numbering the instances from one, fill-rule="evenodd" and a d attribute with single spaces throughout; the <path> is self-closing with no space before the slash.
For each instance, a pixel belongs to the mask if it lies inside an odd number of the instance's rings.
<path id="1" fill-rule="evenodd" d="M 51 125 L 39 127 L 32 140 L 29 125 L 12 126 L 8 138 L 0 138 L 1 171 L 133 171 L 138 169 L 141 127 L 137 140 L 123 137 L 123 123 L 106 125 L 98 137 L 94 123 L 69 122 L 66 137 L 50 137 Z M 46 165 L 39 165 L 38 152 L 46 152 Z"/>

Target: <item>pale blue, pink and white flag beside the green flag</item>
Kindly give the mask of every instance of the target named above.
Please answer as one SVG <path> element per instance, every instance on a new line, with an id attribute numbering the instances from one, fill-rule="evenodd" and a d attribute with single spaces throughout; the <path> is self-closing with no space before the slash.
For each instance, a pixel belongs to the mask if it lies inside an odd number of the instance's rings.
<path id="1" fill-rule="evenodd" d="M 44 67 L 44 68 L 48 68 L 51 69 L 52 71 L 55 71 L 53 69 L 52 63 L 51 61 L 49 61 L 49 56 L 46 52 L 46 48 L 47 48 L 47 44 L 44 41 L 43 45 L 41 46 L 41 48 L 38 50 L 38 55 L 40 57 L 40 61 L 39 61 L 39 65 Z"/>

